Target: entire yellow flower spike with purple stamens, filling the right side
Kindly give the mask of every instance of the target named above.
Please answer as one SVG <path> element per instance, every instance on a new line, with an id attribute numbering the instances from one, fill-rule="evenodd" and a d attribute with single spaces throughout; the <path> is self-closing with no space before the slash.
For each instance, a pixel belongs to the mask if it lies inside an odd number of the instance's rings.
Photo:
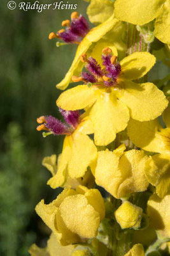
<path id="1" fill-rule="evenodd" d="M 146 42 L 137 29 L 130 45 L 125 22 L 143 26 L 155 20 L 154 35 L 170 44 L 170 3 L 88 2 L 87 15 L 99 25 L 84 36 L 81 31 L 73 63 L 57 84 L 65 90 L 81 82 L 57 99 L 66 124 L 52 116 L 38 118 L 38 131 L 65 136 L 58 158 L 43 159 L 52 174 L 47 184 L 64 190 L 50 204 L 41 200 L 36 206 L 52 234 L 46 248 L 33 244 L 29 252 L 144 256 L 143 243 L 149 255 L 170 239 L 170 98 L 147 82 L 156 58 L 141 51 Z M 78 13 L 71 17 L 74 29 L 78 24 L 82 30 L 85 20 Z M 67 29 L 57 36 L 66 41 L 72 25 L 69 20 L 62 24 Z M 132 54 L 126 56 L 128 47 Z"/>

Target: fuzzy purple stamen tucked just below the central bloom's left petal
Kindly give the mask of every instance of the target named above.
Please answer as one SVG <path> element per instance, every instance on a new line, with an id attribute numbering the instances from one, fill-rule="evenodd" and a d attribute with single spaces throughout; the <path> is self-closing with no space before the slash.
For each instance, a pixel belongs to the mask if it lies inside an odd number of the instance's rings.
<path id="1" fill-rule="evenodd" d="M 80 112 L 78 110 L 76 111 L 66 111 L 62 108 L 59 108 L 59 111 L 62 116 L 64 116 L 65 121 L 68 125 L 71 125 L 72 127 L 77 127 L 79 123 L 80 118 Z"/>

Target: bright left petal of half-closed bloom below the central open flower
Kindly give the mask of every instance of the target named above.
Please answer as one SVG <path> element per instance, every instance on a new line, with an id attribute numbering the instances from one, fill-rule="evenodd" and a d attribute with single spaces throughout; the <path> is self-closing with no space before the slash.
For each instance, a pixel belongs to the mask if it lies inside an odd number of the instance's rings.
<path id="1" fill-rule="evenodd" d="M 98 152 L 97 166 L 94 171 L 96 184 L 102 186 L 111 195 L 117 197 L 122 175 L 118 169 L 119 157 L 106 149 Z"/>

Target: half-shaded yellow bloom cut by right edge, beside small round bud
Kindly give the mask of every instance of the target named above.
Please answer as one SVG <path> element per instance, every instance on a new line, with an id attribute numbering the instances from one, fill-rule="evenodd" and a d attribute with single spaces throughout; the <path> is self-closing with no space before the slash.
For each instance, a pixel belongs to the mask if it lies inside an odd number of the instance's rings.
<path id="1" fill-rule="evenodd" d="M 170 194 L 164 198 L 159 198 L 156 194 L 152 195 L 148 200 L 147 214 L 150 223 L 160 236 L 170 237 Z"/>

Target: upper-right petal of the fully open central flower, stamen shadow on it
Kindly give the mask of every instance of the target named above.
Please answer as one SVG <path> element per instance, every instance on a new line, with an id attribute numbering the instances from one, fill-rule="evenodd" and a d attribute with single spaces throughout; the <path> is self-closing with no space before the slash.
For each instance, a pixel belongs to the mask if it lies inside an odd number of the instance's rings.
<path id="1" fill-rule="evenodd" d="M 155 64 L 155 56 L 149 52 L 134 52 L 120 61 L 122 77 L 128 80 L 139 79 Z"/>

